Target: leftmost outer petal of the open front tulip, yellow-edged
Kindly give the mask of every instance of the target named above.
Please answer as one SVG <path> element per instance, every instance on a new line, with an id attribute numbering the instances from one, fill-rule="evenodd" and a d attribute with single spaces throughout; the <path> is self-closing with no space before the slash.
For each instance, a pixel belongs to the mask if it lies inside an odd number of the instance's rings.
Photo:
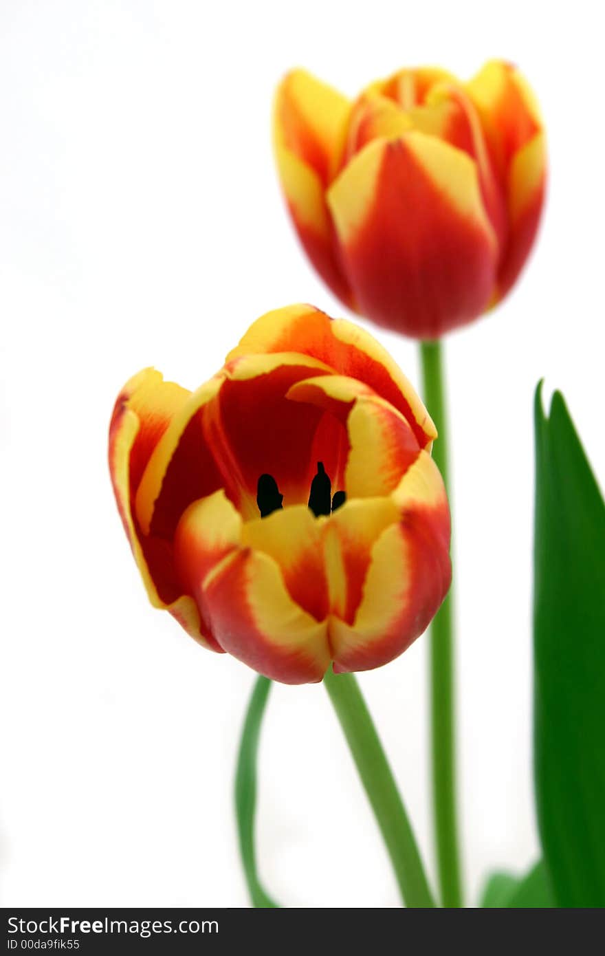
<path id="1" fill-rule="evenodd" d="M 183 594 L 170 556 L 140 532 L 134 497 L 153 450 L 190 393 L 145 369 L 122 389 L 109 431 L 109 467 L 119 514 L 149 600 L 178 619 L 196 641 L 208 644 L 195 602 Z"/>

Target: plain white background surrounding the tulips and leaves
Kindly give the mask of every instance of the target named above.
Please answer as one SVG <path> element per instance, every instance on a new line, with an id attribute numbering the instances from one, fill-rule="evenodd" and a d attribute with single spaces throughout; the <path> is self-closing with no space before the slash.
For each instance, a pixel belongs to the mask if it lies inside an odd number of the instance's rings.
<path id="1" fill-rule="evenodd" d="M 590 2 L 0 8 L 4 905 L 248 904 L 231 782 L 253 674 L 148 606 L 106 430 L 141 367 L 195 388 L 248 323 L 343 310 L 298 249 L 270 153 L 293 65 L 353 96 L 402 65 L 529 76 L 550 133 L 539 243 L 508 301 L 447 341 L 465 872 L 537 853 L 530 768 L 531 401 L 603 442 L 602 30 Z M 378 332 L 418 383 L 416 347 Z M 361 684 L 426 858 L 426 641 Z M 321 685 L 275 686 L 259 846 L 284 904 L 397 905 Z M 430 863 L 433 870 L 432 862 Z"/>

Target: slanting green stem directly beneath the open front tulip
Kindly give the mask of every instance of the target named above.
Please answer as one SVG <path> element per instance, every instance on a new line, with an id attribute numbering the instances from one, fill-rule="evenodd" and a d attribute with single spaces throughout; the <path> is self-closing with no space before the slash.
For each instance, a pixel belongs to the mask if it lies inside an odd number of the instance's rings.
<path id="1" fill-rule="evenodd" d="M 324 682 L 347 738 L 361 782 L 386 844 L 406 906 L 435 905 L 421 856 L 370 712 L 353 674 L 335 674 Z"/>

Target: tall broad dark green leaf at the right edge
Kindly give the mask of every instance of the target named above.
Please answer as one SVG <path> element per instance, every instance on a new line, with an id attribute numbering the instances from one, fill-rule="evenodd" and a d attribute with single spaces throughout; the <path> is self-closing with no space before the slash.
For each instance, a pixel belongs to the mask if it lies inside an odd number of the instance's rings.
<path id="1" fill-rule="evenodd" d="M 605 906 L 605 505 L 555 392 L 535 397 L 534 761 L 557 906 Z"/>

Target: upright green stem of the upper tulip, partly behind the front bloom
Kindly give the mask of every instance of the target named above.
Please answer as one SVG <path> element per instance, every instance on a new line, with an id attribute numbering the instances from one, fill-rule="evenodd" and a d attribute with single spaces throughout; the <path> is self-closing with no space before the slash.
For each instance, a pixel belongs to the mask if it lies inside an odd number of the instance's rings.
<path id="1" fill-rule="evenodd" d="M 439 340 L 421 342 L 424 402 L 439 432 L 433 458 L 445 488 L 447 420 L 443 386 L 443 356 Z M 454 638 L 451 592 L 431 624 L 430 685 L 433 813 L 439 883 L 443 906 L 463 905 L 456 808 L 456 742 L 454 732 Z"/>

